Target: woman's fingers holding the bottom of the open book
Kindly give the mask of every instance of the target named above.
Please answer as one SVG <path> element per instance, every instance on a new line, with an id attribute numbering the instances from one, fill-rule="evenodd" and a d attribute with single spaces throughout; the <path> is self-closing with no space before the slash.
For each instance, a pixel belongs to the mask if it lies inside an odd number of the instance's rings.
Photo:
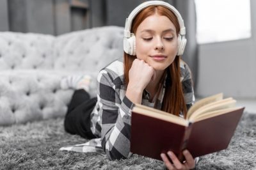
<path id="1" fill-rule="evenodd" d="M 183 151 L 183 155 L 186 158 L 184 163 L 181 163 L 172 151 L 168 151 L 167 155 L 172 159 L 173 164 L 164 153 L 161 153 L 161 158 L 168 169 L 193 169 L 195 167 L 195 159 L 188 150 Z"/>

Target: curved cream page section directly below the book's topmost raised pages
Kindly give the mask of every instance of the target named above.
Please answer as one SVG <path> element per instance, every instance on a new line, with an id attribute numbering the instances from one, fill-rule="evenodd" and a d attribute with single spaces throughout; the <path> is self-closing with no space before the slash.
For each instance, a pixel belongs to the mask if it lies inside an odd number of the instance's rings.
<path id="1" fill-rule="evenodd" d="M 212 112 L 212 111 L 218 111 L 221 109 L 227 109 L 227 108 L 232 108 L 236 106 L 236 100 L 233 98 L 225 98 L 223 100 L 219 100 L 207 105 L 204 105 L 200 109 L 197 109 L 193 114 L 191 114 L 189 120 L 196 120 L 200 114 L 205 114 L 207 112 Z"/>

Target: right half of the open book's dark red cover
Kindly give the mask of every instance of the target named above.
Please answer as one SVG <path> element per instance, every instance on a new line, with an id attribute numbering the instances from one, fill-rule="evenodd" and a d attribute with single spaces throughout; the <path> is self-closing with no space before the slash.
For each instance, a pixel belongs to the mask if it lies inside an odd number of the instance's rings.
<path id="1" fill-rule="evenodd" d="M 244 108 L 193 123 L 187 148 L 193 157 L 225 150 Z"/>

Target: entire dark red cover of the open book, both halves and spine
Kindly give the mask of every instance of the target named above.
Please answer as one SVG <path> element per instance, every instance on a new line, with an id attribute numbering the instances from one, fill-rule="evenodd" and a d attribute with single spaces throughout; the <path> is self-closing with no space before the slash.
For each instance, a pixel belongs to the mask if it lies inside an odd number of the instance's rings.
<path id="1" fill-rule="evenodd" d="M 168 150 L 178 156 L 188 148 L 193 157 L 224 150 L 234 135 L 243 110 L 198 121 L 189 127 L 132 112 L 131 152 L 162 160 L 160 154 Z"/>

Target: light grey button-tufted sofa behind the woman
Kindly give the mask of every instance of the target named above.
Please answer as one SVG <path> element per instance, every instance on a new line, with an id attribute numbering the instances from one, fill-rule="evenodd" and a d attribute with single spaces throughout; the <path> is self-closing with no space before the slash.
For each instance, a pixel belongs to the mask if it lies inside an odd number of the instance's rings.
<path id="1" fill-rule="evenodd" d="M 67 75 L 97 73 L 123 55 L 123 28 L 97 27 L 60 36 L 0 32 L 0 125 L 64 116 L 74 89 Z"/>

